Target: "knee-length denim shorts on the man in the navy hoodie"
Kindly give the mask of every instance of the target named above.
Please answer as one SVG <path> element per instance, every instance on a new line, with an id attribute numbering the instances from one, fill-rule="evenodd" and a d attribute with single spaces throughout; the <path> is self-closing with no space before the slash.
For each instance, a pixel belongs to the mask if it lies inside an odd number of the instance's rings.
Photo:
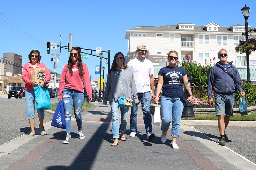
<path id="1" fill-rule="evenodd" d="M 223 96 L 221 94 L 215 93 L 215 111 L 216 116 L 218 115 L 227 115 L 233 116 L 233 106 L 235 94 L 230 96 Z"/>

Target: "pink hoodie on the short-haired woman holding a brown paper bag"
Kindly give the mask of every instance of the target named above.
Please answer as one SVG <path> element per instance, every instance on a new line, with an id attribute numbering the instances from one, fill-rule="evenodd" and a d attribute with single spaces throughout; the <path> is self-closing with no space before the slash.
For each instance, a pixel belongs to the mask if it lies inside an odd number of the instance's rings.
<path id="1" fill-rule="evenodd" d="M 25 90 L 34 90 L 32 84 L 31 84 L 31 81 L 32 81 L 31 80 L 31 72 L 33 71 L 34 68 L 32 66 L 30 66 L 28 63 L 31 63 L 31 62 L 27 62 L 23 66 L 22 80 L 26 83 Z M 45 68 L 46 77 L 44 80 L 46 81 L 46 83 L 49 83 L 49 81 L 51 79 L 51 74 L 50 74 L 48 68 L 45 66 L 45 64 L 38 62 L 36 67 Z"/>

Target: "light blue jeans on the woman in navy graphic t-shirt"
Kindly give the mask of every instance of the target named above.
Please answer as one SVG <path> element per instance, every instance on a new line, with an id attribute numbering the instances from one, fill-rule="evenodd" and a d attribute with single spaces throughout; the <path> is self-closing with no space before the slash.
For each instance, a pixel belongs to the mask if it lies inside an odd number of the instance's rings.
<path id="1" fill-rule="evenodd" d="M 171 136 L 178 138 L 180 132 L 180 121 L 181 115 L 184 108 L 184 103 L 180 98 L 171 98 L 162 96 L 161 98 L 161 109 L 162 109 L 162 131 L 168 131 L 170 123 Z"/>

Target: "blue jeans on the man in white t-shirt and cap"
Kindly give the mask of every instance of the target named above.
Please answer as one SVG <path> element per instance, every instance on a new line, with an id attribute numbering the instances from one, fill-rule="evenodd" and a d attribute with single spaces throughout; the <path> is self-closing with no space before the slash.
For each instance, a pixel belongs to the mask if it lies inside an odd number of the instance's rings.
<path id="1" fill-rule="evenodd" d="M 145 93 L 137 93 L 138 99 L 141 100 L 142 105 L 142 113 L 143 113 L 143 120 L 144 125 L 147 132 L 152 132 L 152 117 L 150 114 L 150 105 L 151 105 L 151 93 L 149 91 Z M 132 101 L 132 108 L 131 108 L 131 122 L 130 122 L 130 129 L 132 132 L 137 132 L 137 113 L 138 113 L 138 106 L 139 104 L 135 104 L 134 100 Z"/>

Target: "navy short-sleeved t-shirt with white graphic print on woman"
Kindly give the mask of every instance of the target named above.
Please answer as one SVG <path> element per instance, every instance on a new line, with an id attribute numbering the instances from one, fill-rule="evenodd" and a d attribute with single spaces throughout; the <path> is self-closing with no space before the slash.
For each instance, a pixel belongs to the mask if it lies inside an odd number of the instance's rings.
<path id="1" fill-rule="evenodd" d="M 182 78 L 187 74 L 182 67 L 162 67 L 159 75 L 163 76 L 163 90 L 162 96 L 179 98 L 184 93 Z"/>

